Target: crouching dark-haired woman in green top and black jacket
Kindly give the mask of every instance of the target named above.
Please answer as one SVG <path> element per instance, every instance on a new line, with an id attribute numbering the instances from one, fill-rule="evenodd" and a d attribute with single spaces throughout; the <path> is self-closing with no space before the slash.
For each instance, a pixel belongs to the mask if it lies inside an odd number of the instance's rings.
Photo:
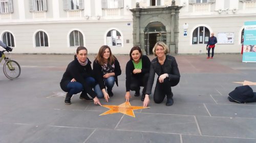
<path id="1" fill-rule="evenodd" d="M 148 59 L 146 55 L 142 55 L 140 47 L 134 46 L 131 49 L 130 61 L 127 62 L 125 68 L 126 102 L 131 98 L 130 90 L 135 91 L 134 96 L 140 96 L 141 86 L 144 87 L 142 90 L 141 101 L 144 101 L 150 64 L 150 59 Z"/>

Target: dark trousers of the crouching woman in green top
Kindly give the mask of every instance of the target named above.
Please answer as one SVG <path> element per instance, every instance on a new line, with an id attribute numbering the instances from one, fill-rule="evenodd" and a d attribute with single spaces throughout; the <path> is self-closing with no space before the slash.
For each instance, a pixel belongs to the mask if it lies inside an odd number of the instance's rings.
<path id="1" fill-rule="evenodd" d="M 138 92 L 140 91 L 140 87 L 144 87 L 142 90 L 142 94 L 144 94 L 146 90 L 148 75 L 149 75 L 148 73 L 145 73 L 139 76 L 132 76 L 130 90 Z"/>

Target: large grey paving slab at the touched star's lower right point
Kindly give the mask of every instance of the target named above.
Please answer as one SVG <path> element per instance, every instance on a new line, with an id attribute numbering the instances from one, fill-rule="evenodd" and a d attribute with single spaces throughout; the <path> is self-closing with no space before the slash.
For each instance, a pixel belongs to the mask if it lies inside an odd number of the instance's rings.
<path id="1" fill-rule="evenodd" d="M 159 133 L 199 134 L 192 116 L 135 113 L 136 118 L 124 116 L 118 130 L 148 131 Z"/>

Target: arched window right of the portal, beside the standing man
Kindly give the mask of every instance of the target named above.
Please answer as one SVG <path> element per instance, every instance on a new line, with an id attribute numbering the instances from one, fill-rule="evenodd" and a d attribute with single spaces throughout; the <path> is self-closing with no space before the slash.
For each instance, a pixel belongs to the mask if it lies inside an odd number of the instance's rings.
<path id="1" fill-rule="evenodd" d="M 192 44 L 207 44 L 210 37 L 210 31 L 205 26 L 197 27 L 193 32 Z"/>

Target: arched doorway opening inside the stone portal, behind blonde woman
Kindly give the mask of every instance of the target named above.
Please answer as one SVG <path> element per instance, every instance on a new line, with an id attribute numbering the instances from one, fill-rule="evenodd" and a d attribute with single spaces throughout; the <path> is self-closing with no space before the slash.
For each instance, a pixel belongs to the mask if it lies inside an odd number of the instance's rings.
<path id="1" fill-rule="evenodd" d="M 144 32 L 144 49 L 146 54 L 153 54 L 153 48 L 158 41 L 166 43 L 166 30 L 161 22 L 152 22 L 146 26 Z"/>

